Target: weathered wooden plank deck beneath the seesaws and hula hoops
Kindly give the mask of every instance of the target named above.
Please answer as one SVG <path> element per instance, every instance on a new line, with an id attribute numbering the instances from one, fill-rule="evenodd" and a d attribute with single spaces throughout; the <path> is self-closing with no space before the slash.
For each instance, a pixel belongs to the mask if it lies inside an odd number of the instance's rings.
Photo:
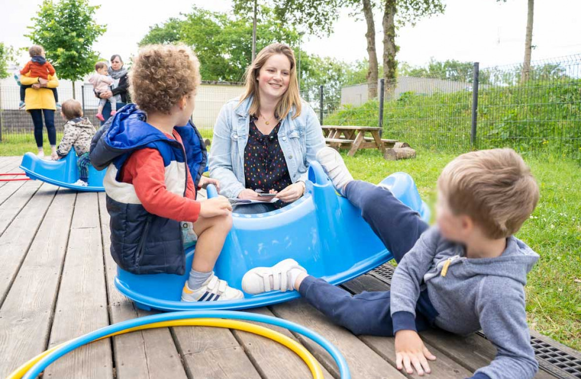
<path id="1" fill-rule="evenodd" d="M 19 163 L 20 157 L 2 158 L 0 172 L 16 172 Z M 114 288 L 116 265 L 109 254 L 103 193 L 77 195 L 41 182 L 0 182 L 0 256 L 0 377 L 47 344 L 149 314 L 135 309 Z M 352 293 L 389 288 L 371 275 L 343 286 Z M 355 378 L 418 377 L 394 369 L 393 338 L 356 337 L 304 300 L 252 312 L 274 313 L 318 331 L 343 352 Z M 338 376 L 335 363 L 320 346 L 288 330 L 272 329 L 303 342 L 320 360 L 326 378 Z M 430 330 L 422 338 L 438 358 L 431 363 L 429 377 L 434 379 L 467 377 L 495 353 L 479 335 L 458 337 Z M 175 327 L 120 335 L 112 342 L 77 349 L 49 367 L 45 377 L 274 379 L 309 377 L 309 371 L 294 353 L 263 337 Z M 544 371 L 536 376 L 551 377 Z"/>

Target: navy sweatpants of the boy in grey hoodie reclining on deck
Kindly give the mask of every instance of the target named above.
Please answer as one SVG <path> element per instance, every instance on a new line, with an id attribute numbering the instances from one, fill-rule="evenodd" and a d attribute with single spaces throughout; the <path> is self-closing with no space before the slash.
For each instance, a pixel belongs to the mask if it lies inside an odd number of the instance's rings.
<path id="1" fill-rule="evenodd" d="M 428 224 L 419 214 L 397 200 L 385 187 L 353 181 L 347 183 L 345 196 L 361 210 L 361 216 L 392 252 L 396 262 L 410 251 Z M 393 335 L 390 312 L 390 291 L 363 292 L 351 295 L 322 279 L 307 276 L 300 285 L 300 294 L 315 308 L 353 334 Z M 422 291 L 416 307 L 418 331 L 433 324 L 436 310 Z"/>

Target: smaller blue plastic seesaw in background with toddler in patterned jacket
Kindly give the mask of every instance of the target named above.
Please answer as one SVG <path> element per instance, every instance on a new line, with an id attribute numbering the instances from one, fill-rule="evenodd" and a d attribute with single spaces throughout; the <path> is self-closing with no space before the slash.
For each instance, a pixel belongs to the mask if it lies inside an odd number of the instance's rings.
<path id="1" fill-rule="evenodd" d="M 20 168 L 26 172 L 28 178 L 51 183 L 55 186 L 78 191 L 105 191 L 103 178 L 105 178 L 107 170 L 97 171 L 92 165 L 89 165 L 89 185 L 83 187 L 73 184 L 78 181 L 77 154 L 74 151 L 74 147 L 69 152 L 69 155 L 58 161 L 45 160 L 33 153 L 26 153 L 22 157 Z"/>

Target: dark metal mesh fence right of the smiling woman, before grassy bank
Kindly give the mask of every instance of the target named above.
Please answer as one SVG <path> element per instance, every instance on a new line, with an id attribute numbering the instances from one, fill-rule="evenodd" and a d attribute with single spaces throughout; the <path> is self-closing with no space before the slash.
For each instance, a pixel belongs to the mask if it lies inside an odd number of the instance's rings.
<path id="1" fill-rule="evenodd" d="M 581 156 L 581 55 L 533 62 L 528 70 L 475 64 L 340 92 L 323 86 L 322 102 L 320 92 L 303 97 L 317 114 L 323 109 L 324 125 L 379 126 L 383 138 L 412 146 Z"/>

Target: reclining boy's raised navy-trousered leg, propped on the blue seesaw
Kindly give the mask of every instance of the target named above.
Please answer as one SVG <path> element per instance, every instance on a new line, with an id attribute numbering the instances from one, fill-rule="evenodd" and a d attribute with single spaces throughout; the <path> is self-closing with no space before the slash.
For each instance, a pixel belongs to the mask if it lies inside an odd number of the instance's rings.
<path id="1" fill-rule="evenodd" d="M 397 200 L 385 187 L 352 181 L 345 186 L 345 196 L 361 210 L 361 216 L 397 262 L 428 229 L 418 212 Z"/>

